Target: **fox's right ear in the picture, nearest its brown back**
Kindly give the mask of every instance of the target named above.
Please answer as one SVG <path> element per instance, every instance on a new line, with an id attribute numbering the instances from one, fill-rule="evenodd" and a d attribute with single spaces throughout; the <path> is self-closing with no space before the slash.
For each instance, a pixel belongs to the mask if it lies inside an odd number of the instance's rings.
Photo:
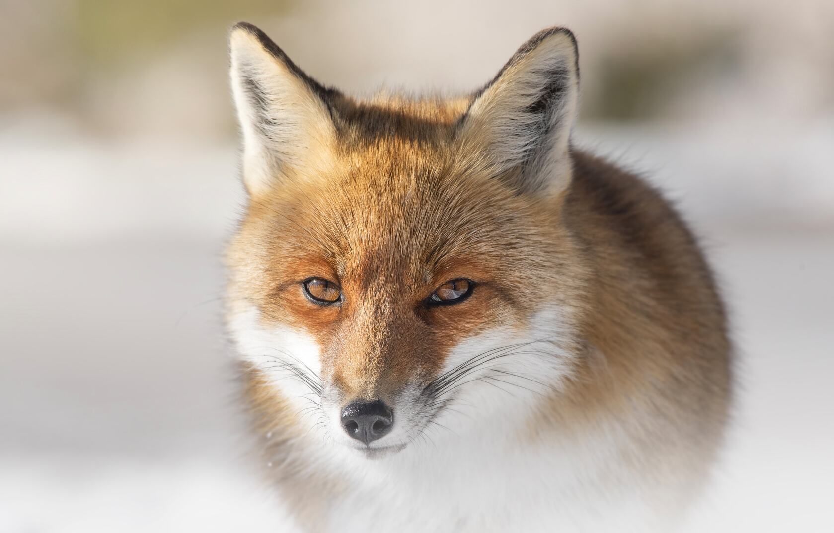
<path id="1" fill-rule="evenodd" d="M 570 184 L 578 101 L 576 39 L 568 29 L 546 29 L 472 98 L 460 124 L 461 148 L 483 154 L 490 173 L 522 192 L 558 194 Z"/>

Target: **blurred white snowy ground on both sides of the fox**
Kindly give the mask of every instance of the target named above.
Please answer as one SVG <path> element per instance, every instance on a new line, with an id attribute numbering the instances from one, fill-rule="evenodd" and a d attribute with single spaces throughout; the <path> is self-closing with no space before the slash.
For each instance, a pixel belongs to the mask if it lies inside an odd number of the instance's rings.
<path id="1" fill-rule="evenodd" d="M 586 134 L 681 200 L 731 304 L 736 425 L 693 532 L 834 530 L 827 135 L 748 160 L 714 136 Z M 274 530 L 219 329 L 234 149 L 0 133 L 0 161 L 0 532 Z"/>

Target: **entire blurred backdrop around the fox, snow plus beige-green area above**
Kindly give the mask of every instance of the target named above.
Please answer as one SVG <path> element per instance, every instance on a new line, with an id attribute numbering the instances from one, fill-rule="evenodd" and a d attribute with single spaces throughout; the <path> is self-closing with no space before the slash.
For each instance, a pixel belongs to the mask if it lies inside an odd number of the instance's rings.
<path id="1" fill-rule="evenodd" d="M 731 309 L 689 530 L 834 530 L 834 3 L 0 0 L 0 533 L 274 530 L 219 320 L 238 20 L 351 93 L 470 90 L 572 28 L 577 143 L 676 200 Z"/>

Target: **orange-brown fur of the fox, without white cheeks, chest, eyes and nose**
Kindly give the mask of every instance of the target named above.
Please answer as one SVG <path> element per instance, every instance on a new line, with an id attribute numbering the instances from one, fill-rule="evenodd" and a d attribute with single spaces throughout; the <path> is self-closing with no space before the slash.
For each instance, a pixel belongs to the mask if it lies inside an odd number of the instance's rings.
<path id="1" fill-rule="evenodd" d="M 525 415 L 525 439 L 546 440 L 558 428 L 580 442 L 605 420 L 636 443 L 622 457 L 628 471 L 662 477 L 677 468 L 696 485 L 731 399 L 721 299 L 695 239 L 660 194 L 569 147 L 563 123 L 575 113 L 578 76 L 572 35 L 556 29 L 531 39 L 469 98 L 367 102 L 296 73 L 254 27 L 239 27 L 234 39 L 247 50 L 262 47 L 263 61 L 296 77 L 306 100 L 294 101 L 326 105 L 309 111 L 313 129 L 296 138 L 292 158 L 282 148 L 267 174 L 244 167 L 251 195 L 227 256 L 230 321 L 254 306 L 264 329 L 285 326 L 314 339 L 320 377 L 343 401 L 391 400 L 435 379 L 461 341 L 501 327 L 525 331 L 540 309 L 566 309 L 576 332 L 560 346 L 574 356 L 570 377 Z M 512 107 L 527 98 L 513 92 L 515 79 L 539 75 L 528 64 L 545 61 L 537 54 L 561 61 L 554 64 L 565 68 L 564 85 L 555 92 L 567 96 L 554 98 L 574 101 L 560 104 L 552 132 L 543 127 L 545 148 L 530 148 L 528 138 L 507 148 L 515 122 L 538 127 L 518 118 L 535 106 Z M 501 120 L 509 121 L 504 129 L 492 127 Z M 279 134 L 268 133 L 257 153 Z M 258 177 L 245 174 L 251 168 Z M 310 277 L 338 284 L 343 301 L 311 304 L 301 285 Z M 457 278 L 475 282 L 469 299 L 425 305 Z M 282 479 L 307 495 L 294 505 L 318 509 L 305 519 L 315 530 L 318 519 L 309 516 L 347 489 L 323 470 L 309 483 L 293 474 L 306 464 L 294 448 L 304 426 L 263 370 L 248 366 L 244 375 L 260 430 L 284 435 L 268 453 L 292 457 L 295 470 Z"/>

